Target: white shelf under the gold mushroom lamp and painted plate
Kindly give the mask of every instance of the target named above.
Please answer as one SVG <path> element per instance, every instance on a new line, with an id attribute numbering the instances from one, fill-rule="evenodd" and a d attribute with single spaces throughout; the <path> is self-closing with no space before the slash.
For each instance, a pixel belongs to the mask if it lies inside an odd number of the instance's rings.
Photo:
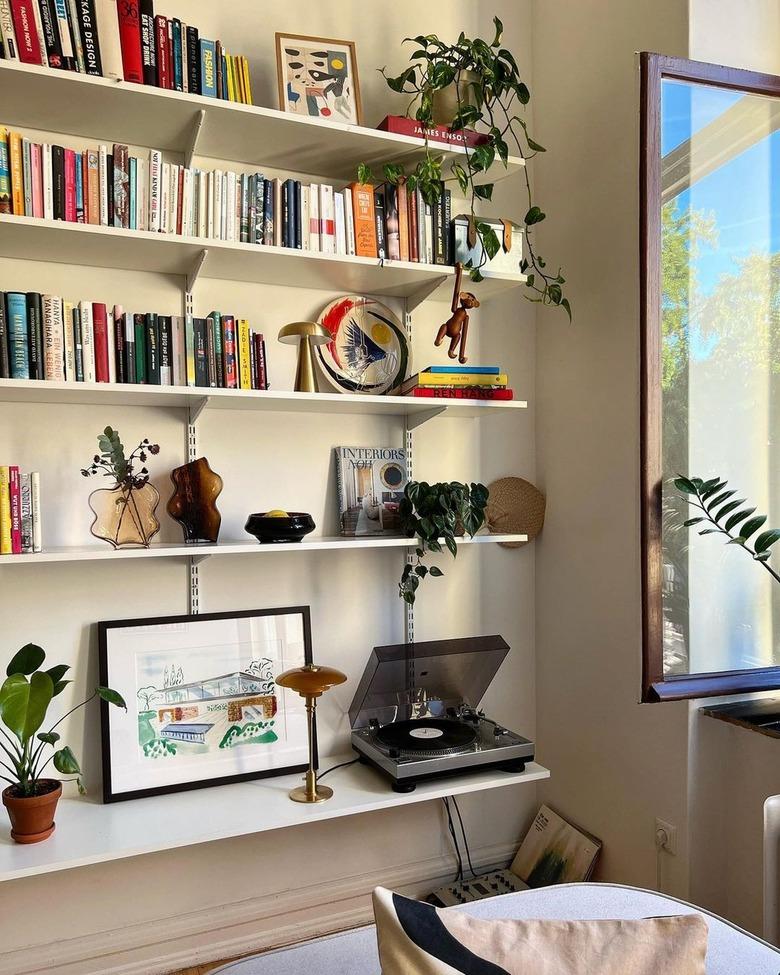
<path id="1" fill-rule="evenodd" d="M 0 379 L 0 403 L 70 403 L 82 406 L 170 406 L 268 413 L 347 413 L 406 417 L 414 422 L 436 413 L 445 417 L 486 416 L 526 409 L 525 400 L 423 399 L 290 390 L 212 389 L 134 383 L 66 383 Z M 444 412 L 438 413 L 437 411 Z"/>

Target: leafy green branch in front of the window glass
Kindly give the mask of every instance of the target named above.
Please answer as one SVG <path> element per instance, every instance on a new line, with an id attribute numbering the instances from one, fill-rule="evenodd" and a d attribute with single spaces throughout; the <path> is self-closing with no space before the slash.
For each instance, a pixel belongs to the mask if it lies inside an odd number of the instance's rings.
<path id="1" fill-rule="evenodd" d="M 695 526 L 700 535 L 723 535 L 726 545 L 744 549 L 776 582 L 780 582 L 780 573 L 768 561 L 772 546 L 780 541 L 780 528 L 767 528 L 756 534 L 766 524 L 766 515 L 757 515 L 755 508 L 743 507 L 750 502 L 745 498 L 735 499 L 737 491 L 727 490 L 728 481 L 720 477 L 704 481 L 700 477 L 678 475 L 674 486 L 701 512 L 683 523 L 686 528 Z"/>

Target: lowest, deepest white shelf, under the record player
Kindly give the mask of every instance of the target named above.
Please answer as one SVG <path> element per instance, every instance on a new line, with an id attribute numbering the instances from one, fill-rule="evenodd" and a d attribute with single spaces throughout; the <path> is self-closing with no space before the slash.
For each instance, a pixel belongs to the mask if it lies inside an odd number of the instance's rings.
<path id="1" fill-rule="evenodd" d="M 325 769 L 353 757 L 323 759 L 320 767 Z M 0 881 L 409 806 L 441 796 L 524 785 L 549 776 L 546 768 L 530 762 L 525 772 L 487 770 L 452 776 L 418 785 L 414 792 L 400 795 L 378 772 L 356 764 L 328 776 L 333 798 L 311 806 L 287 797 L 289 790 L 302 781 L 299 775 L 108 806 L 84 799 L 63 799 L 57 809 L 57 829 L 43 843 L 20 846 L 11 840 L 7 824 L 0 827 Z"/>

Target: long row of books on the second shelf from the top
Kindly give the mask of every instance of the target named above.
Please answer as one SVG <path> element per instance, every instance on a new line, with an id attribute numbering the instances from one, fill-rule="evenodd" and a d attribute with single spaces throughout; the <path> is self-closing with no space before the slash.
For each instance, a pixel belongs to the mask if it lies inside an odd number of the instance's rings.
<path id="1" fill-rule="evenodd" d="M 0 0 L 0 3 L 2 0 Z M 75 150 L 0 128 L 0 213 L 244 244 L 452 264 L 450 191 L 434 206 L 406 185 L 266 179 L 263 173 Z"/>

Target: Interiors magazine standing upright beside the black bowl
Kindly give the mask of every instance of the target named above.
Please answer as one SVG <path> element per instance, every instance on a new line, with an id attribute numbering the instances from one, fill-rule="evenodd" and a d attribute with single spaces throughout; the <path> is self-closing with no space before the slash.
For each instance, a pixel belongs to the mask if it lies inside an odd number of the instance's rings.
<path id="1" fill-rule="evenodd" d="M 398 506 L 406 487 L 403 447 L 336 447 L 342 535 L 400 535 Z"/>

